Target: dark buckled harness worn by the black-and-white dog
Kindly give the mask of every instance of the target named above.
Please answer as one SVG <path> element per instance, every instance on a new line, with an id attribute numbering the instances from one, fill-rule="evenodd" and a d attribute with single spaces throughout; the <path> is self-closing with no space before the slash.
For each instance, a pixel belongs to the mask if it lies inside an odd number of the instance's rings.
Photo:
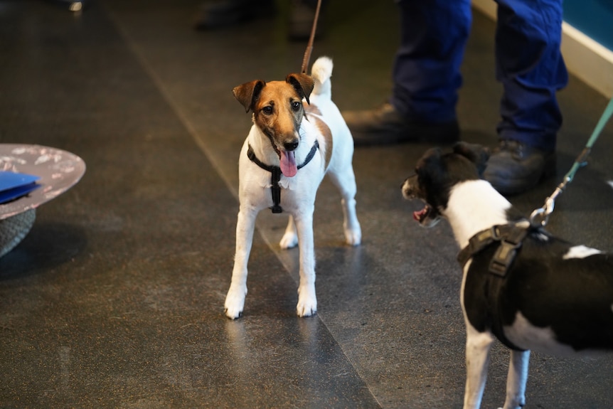
<path id="1" fill-rule="evenodd" d="M 489 326 L 503 344 L 518 351 L 521 351 L 521 349 L 509 341 L 503 331 L 502 314 L 499 311 L 500 291 L 508 279 L 508 271 L 521 250 L 523 240 L 533 233 L 547 234 L 540 226 L 528 225 L 526 227 L 516 223 L 494 225 L 476 233 L 457 257 L 460 265 L 464 267 L 468 260 L 477 253 L 491 245 L 497 246 L 494 256 L 489 261 L 489 275 L 481 276 L 483 277 L 481 280 L 485 280 L 483 288 L 486 292 L 484 297 L 486 309 L 489 311 Z M 469 270 L 467 274 L 479 274 L 479 272 Z"/>

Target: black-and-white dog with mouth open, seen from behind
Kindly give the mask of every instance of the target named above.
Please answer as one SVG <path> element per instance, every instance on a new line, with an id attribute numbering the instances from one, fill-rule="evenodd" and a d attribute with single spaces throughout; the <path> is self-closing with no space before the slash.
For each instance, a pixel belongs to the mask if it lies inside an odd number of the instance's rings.
<path id="1" fill-rule="evenodd" d="M 531 226 L 479 175 L 489 157 L 478 145 L 428 150 L 403 196 L 425 201 L 413 217 L 446 218 L 463 250 L 460 301 L 467 327 L 464 409 L 479 408 L 489 349 L 511 348 L 504 409 L 525 403 L 530 350 L 569 355 L 613 349 L 613 254 L 554 238 Z"/>

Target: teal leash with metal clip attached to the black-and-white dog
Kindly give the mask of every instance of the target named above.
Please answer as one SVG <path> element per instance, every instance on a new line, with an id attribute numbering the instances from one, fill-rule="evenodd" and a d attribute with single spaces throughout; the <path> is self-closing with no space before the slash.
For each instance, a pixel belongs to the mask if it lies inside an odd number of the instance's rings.
<path id="1" fill-rule="evenodd" d="M 570 171 L 564 176 L 562 183 L 555 188 L 555 191 L 545 199 L 545 204 L 543 207 L 535 209 L 530 215 L 530 223 L 535 225 L 535 221 L 537 218 L 540 218 L 540 225 L 545 227 L 549 221 L 549 216 L 553 213 L 553 208 L 555 207 L 555 199 L 560 196 L 560 193 L 564 191 L 566 185 L 572 182 L 572 179 L 575 178 L 575 174 L 579 170 L 580 167 L 587 165 L 587 156 L 590 156 L 590 152 L 592 152 L 592 147 L 596 143 L 598 137 L 600 136 L 600 132 L 604 128 L 604 125 L 607 124 L 609 118 L 613 115 L 613 98 L 609 100 L 609 104 L 606 108 L 604 108 L 604 112 L 600 116 L 596 127 L 594 128 L 594 132 L 592 132 L 592 136 L 588 139 L 587 144 L 585 144 L 585 148 L 583 151 L 577 156 L 575 159 L 575 163 L 572 164 Z"/>

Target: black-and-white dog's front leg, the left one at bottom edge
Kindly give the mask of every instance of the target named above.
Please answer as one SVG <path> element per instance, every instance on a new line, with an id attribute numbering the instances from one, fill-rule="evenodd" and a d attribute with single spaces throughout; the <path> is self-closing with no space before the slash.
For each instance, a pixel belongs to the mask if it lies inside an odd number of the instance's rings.
<path id="1" fill-rule="evenodd" d="M 479 409 L 487 378 L 489 350 L 494 336 L 479 332 L 467 322 L 466 362 L 467 379 L 464 391 L 464 409 Z"/>

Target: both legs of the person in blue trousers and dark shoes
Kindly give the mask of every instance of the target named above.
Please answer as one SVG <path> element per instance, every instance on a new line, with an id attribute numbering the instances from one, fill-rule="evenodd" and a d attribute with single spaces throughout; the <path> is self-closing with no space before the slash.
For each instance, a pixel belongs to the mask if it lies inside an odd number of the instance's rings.
<path id="1" fill-rule="evenodd" d="M 471 25 L 468 0 L 401 0 L 402 39 L 393 95 L 377 110 L 343 112 L 356 145 L 457 139 L 459 66 Z M 518 193 L 555 166 L 562 122 L 555 92 L 567 83 L 560 55 L 561 0 L 501 0 L 496 78 L 503 84 L 501 143 L 484 177 Z"/>

